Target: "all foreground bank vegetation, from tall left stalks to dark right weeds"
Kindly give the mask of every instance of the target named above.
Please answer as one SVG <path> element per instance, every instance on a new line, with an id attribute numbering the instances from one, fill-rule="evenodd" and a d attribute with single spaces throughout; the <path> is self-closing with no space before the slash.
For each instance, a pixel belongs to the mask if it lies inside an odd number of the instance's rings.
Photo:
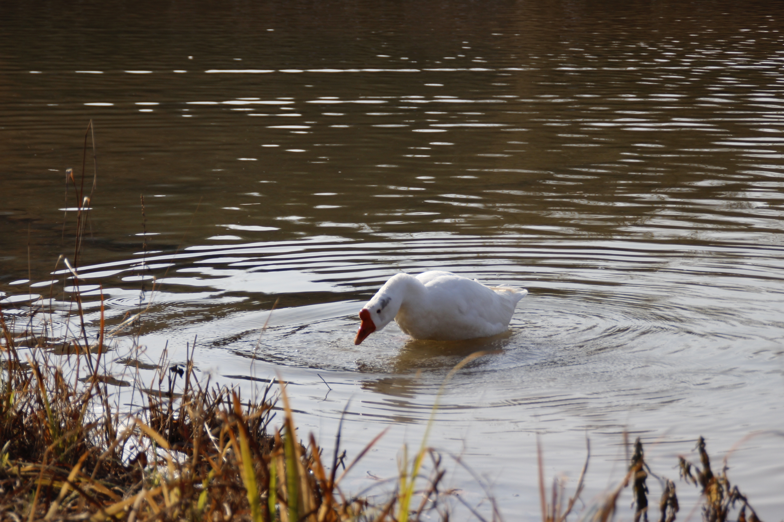
<path id="1" fill-rule="evenodd" d="M 91 122 L 85 132 L 80 182 L 67 170 L 77 214 L 72 261 L 61 256 L 57 262 L 57 267 L 60 262 L 67 267 L 59 272 L 64 285 L 81 283 L 78 260 L 88 221 L 86 210 L 96 187 L 94 174 L 93 189 L 85 195 L 87 141 L 92 135 Z M 312 434 L 302 439 L 297 432 L 280 376 L 264 380 L 265 386 L 245 399 L 234 388 L 212 384 L 209 379 L 199 382 L 192 349 L 183 365 L 166 361 L 164 352 L 158 365 L 147 368 L 155 370 L 153 384 L 142 382 L 138 370 L 143 366 L 138 359 L 125 361 L 131 368 L 136 365 L 134 382 L 120 380 L 113 376 L 106 356 L 114 350 L 113 337 L 135 337 L 127 332 L 139 327 L 143 310 L 110 326 L 104 318 L 100 290 L 96 327 L 85 319 L 80 293 L 69 292 L 56 305 L 65 307 L 77 333 L 58 337 L 39 317 L 55 308 L 50 288 L 49 299 L 41 301 L 44 304 L 24 310 L 4 311 L 8 307 L 0 301 L 0 522 L 419 522 L 451 520 L 456 509 L 469 520 L 503 520 L 492 489 L 459 456 L 448 455 L 456 462 L 456 470 L 473 477 L 477 489 L 483 490 L 481 506 L 470 505 L 459 491 L 444 484 L 443 455 L 428 441 L 443 385 L 417 452 L 409 455 L 404 447 L 397 455 L 398 476 L 379 482 L 374 491 L 349 493 L 341 487 L 343 477 L 386 430 L 368 441 L 358 455 L 341 450 L 338 430 L 334 450 L 328 455 Z M 477 352 L 463 359 L 445 383 L 482 355 Z M 118 393 L 116 387 L 132 387 L 131 404 L 121 403 L 121 396 L 126 400 L 127 394 Z M 273 423 L 276 418 L 281 420 L 279 427 Z M 701 492 L 702 519 L 724 522 L 734 515 L 739 522 L 758 522 L 746 496 L 730 483 L 726 458 L 722 469 L 714 472 L 702 437 L 697 450 L 699 463 L 680 457 L 678 467 L 681 480 Z M 662 484 L 659 522 L 677 518 L 681 506 L 676 484 L 648 467 L 639 438 L 627 458 L 622 481 L 587 506 L 580 494 L 590 445 L 571 495 L 562 478 L 546 487 L 541 446 L 538 451 L 539 506 L 521 506 L 526 518 L 539 512 L 543 522 L 608 522 L 616 515 L 622 491 L 630 488 L 634 522 L 647 522 L 649 502 L 655 502 L 649 500 L 646 481 L 650 477 Z M 380 494 L 379 488 L 384 488 Z M 575 509 L 578 502 L 583 506 L 579 511 Z"/>

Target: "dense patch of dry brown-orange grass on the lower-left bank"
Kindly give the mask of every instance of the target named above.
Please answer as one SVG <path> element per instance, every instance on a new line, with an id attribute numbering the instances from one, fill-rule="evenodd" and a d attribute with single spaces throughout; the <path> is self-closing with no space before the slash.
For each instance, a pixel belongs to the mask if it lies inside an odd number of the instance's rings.
<path id="1" fill-rule="evenodd" d="M 339 448 L 323 462 L 312 435 L 297 440 L 285 386 L 280 430 L 270 428 L 280 411 L 274 383 L 243 401 L 227 387 L 201 387 L 191 362 L 182 376 L 160 370 L 163 385 L 147 391 L 147 404 L 121 412 L 95 371 L 79 383 L 40 351 L 24 364 L 9 329 L 4 335 L 0 513 L 9 520 L 448 518 L 438 511 L 444 472 L 430 448 L 434 474 L 424 489 L 388 495 L 382 506 L 346 495 L 340 482 L 380 435 L 348 465 Z M 408 509 L 414 494 L 422 501 Z"/>

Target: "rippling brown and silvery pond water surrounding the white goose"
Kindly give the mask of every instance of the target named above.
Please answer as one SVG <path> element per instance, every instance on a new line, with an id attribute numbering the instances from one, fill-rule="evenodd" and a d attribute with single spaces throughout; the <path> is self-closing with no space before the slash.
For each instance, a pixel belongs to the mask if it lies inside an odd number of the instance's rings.
<path id="1" fill-rule="evenodd" d="M 588 500 L 622 477 L 625 430 L 673 479 L 706 435 L 760 516 L 780 517 L 772 5 L 4 2 L 3 311 L 70 295 L 62 273 L 46 282 L 73 257 L 64 170 L 79 180 L 92 119 L 85 281 L 69 290 L 93 321 L 98 284 L 111 322 L 149 305 L 143 360 L 168 344 L 183 362 L 197 339 L 202 376 L 250 389 L 280 373 L 327 447 L 348 401 L 350 453 L 393 426 L 355 491 L 394 476 L 448 370 L 492 349 L 447 383 L 430 442 L 463 455 L 509 520 L 539 517 L 537 434 L 547 476 L 570 484 L 591 438 Z M 354 347 L 361 304 L 432 268 L 528 288 L 510 336 L 390 326 Z M 466 473 L 450 480 L 481 501 Z M 681 506 L 696 499 L 678 488 Z"/>

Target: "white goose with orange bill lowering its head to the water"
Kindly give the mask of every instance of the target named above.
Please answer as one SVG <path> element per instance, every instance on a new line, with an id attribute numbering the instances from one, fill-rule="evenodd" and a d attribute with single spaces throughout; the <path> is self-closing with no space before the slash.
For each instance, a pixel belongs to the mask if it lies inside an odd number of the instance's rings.
<path id="1" fill-rule="evenodd" d="M 392 319 L 414 339 L 461 340 L 505 332 L 528 290 L 485 286 L 450 272 L 394 275 L 359 311 L 354 344 Z"/>

